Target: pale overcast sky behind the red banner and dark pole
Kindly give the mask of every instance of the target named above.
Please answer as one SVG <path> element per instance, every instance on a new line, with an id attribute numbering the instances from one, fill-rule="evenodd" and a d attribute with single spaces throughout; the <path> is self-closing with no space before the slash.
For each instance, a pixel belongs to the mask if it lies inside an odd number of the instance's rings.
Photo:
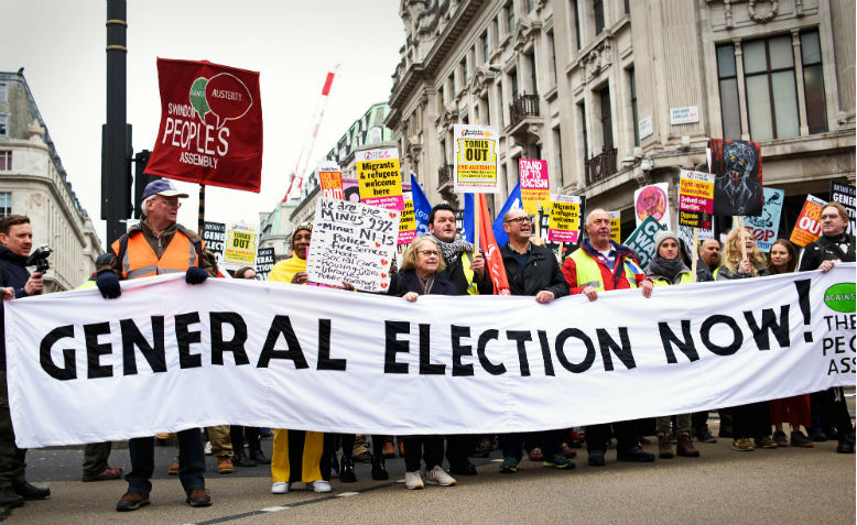
<path id="1" fill-rule="evenodd" d="M 24 67 L 72 185 L 104 242 L 107 2 L 2 0 L 0 18 L 0 70 Z M 397 0 L 128 0 L 128 122 L 134 151 L 151 150 L 158 134 L 156 57 L 259 72 L 262 190 L 206 187 L 207 220 L 257 222 L 258 212 L 271 210 L 285 193 L 327 72 L 341 64 L 318 132 L 317 158 L 370 105 L 388 100 L 403 44 Z M 198 186 L 176 184 L 191 194 L 178 220 L 195 230 Z"/>

